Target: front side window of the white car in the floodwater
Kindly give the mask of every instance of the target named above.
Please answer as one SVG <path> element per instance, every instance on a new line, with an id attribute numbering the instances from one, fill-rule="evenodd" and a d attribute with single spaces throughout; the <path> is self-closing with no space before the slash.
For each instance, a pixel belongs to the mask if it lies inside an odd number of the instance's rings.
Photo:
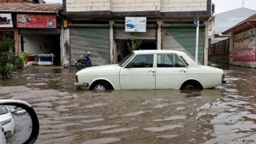
<path id="1" fill-rule="evenodd" d="M 139 54 L 128 64 L 130 68 L 153 67 L 154 54 Z M 126 66 L 127 67 L 127 66 Z"/>

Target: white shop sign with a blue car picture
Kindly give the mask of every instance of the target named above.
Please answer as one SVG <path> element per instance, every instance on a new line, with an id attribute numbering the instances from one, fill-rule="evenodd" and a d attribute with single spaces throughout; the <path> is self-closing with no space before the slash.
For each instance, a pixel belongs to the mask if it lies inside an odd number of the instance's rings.
<path id="1" fill-rule="evenodd" d="M 126 32 L 146 32 L 146 17 L 126 17 Z"/>

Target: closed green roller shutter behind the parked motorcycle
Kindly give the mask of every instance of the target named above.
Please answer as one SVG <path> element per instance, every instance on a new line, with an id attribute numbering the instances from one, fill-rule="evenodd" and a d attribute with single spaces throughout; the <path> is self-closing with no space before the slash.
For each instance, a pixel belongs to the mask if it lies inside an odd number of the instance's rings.
<path id="1" fill-rule="evenodd" d="M 93 66 L 110 64 L 110 29 L 92 27 L 70 28 L 71 66 L 75 58 L 90 51 Z"/>

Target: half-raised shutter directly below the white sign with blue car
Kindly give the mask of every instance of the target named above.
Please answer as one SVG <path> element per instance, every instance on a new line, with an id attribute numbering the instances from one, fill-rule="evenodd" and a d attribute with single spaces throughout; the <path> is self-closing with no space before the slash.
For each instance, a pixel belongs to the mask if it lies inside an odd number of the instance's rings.
<path id="1" fill-rule="evenodd" d="M 128 40 L 130 38 L 134 37 L 134 39 L 138 40 L 156 40 L 157 38 L 157 30 L 155 29 L 147 29 L 146 33 L 131 33 L 131 32 L 125 32 L 125 30 L 122 30 L 120 34 L 114 39 L 119 40 Z"/>

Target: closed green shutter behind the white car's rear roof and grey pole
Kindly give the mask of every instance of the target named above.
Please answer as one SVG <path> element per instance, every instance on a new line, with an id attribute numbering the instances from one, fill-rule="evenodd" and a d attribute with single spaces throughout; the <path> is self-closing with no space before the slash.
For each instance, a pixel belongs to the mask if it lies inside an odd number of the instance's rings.
<path id="1" fill-rule="evenodd" d="M 198 43 L 198 62 L 203 63 L 204 58 L 204 33 L 205 29 L 199 30 Z M 196 28 L 191 27 L 165 27 L 162 28 L 162 49 L 163 50 L 182 50 L 195 57 Z"/>

